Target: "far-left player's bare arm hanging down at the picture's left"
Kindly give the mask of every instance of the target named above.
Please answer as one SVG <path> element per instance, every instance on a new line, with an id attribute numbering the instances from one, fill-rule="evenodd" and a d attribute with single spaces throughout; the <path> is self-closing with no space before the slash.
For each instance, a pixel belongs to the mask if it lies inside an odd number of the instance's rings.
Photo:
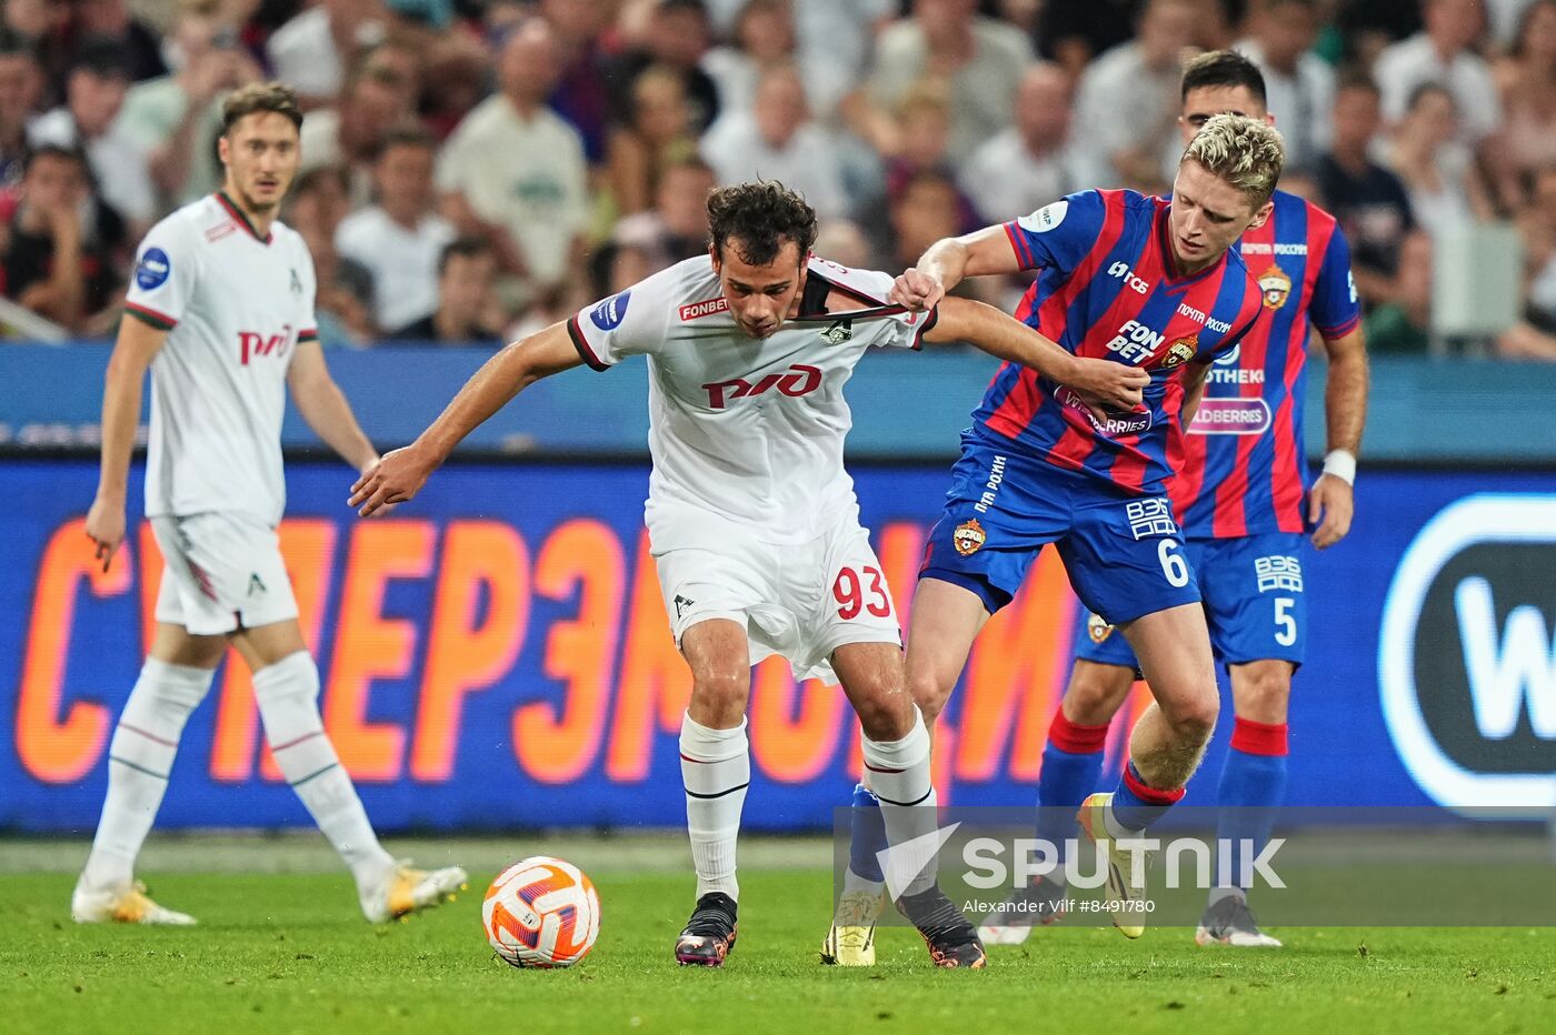
<path id="1" fill-rule="evenodd" d="M 129 483 L 129 454 L 135 448 L 140 423 L 140 392 L 146 367 L 162 351 L 168 333 L 126 315 L 118 325 L 118 340 L 103 379 L 103 452 L 98 491 L 87 511 L 87 536 L 96 558 L 107 570 L 118 544 L 124 541 L 124 494 Z"/>

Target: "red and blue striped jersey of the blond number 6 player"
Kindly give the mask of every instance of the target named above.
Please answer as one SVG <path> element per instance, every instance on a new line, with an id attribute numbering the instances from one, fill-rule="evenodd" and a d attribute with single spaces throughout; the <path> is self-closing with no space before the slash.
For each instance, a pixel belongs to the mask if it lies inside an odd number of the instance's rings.
<path id="1" fill-rule="evenodd" d="M 1016 319 L 1077 356 L 1151 375 L 1141 412 L 1097 421 L 1067 387 L 1005 364 L 972 420 L 1049 463 L 1136 494 L 1164 490 L 1169 429 L 1183 410 L 1183 370 L 1229 353 L 1262 305 L 1235 250 L 1176 272 L 1169 202 L 1134 191 L 1080 191 L 1005 224 L 1038 278 Z"/>

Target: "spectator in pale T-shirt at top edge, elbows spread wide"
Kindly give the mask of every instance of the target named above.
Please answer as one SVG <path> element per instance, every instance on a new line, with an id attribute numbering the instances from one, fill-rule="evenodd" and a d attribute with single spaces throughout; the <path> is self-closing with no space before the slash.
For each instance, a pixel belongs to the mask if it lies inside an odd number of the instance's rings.
<path id="1" fill-rule="evenodd" d="M 1016 84 L 1029 64 L 1032 42 L 1015 26 L 977 14 L 977 0 L 913 0 L 912 17 L 888 25 L 876 42 L 868 99 L 876 112 L 892 112 L 926 76 L 946 79 L 949 154 L 960 160 L 1010 126 Z M 906 141 L 893 146 L 870 127 L 878 118 L 860 124 L 857 110 L 851 115 L 884 154 L 899 152 Z"/>

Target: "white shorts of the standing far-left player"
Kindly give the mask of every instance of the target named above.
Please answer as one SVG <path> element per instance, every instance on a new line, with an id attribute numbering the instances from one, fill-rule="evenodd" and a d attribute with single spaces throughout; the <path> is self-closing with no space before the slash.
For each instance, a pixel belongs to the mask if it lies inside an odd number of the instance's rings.
<path id="1" fill-rule="evenodd" d="M 257 629 L 297 617 L 275 530 L 235 513 L 152 518 L 165 561 L 157 622 L 191 636 Z"/>

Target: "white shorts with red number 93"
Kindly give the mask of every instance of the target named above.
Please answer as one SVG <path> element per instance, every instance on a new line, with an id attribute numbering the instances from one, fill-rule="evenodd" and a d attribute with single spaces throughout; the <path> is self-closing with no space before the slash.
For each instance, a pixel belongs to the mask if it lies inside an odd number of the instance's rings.
<path id="1" fill-rule="evenodd" d="M 699 622 L 728 619 L 745 626 L 753 665 L 783 654 L 795 679 L 829 684 L 829 659 L 843 643 L 901 645 L 892 591 L 856 514 L 809 542 L 762 542 L 745 525 L 720 522 L 716 547 L 655 550 L 675 645 Z"/>

